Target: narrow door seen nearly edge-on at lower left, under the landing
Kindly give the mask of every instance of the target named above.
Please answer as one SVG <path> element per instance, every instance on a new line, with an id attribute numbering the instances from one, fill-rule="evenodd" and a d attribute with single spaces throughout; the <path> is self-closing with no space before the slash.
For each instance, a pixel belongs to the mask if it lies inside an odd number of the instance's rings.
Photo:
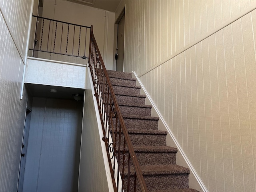
<path id="1" fill-rule="evenodd" d="M 23 141 L 22 141 L 22 152 L 21 152 L 21 158 L 20 158 L 20 174 L 19 174 L 19 182 L 18 182 L 18 192 L 22 192 L 22 188 L 23 188 L 26 154 L 27 154 L 27 148 L 28 148 L 28 133 L 30 128 L 30 118 L 31 118 L 31 111 L 27 108 Z"/>

